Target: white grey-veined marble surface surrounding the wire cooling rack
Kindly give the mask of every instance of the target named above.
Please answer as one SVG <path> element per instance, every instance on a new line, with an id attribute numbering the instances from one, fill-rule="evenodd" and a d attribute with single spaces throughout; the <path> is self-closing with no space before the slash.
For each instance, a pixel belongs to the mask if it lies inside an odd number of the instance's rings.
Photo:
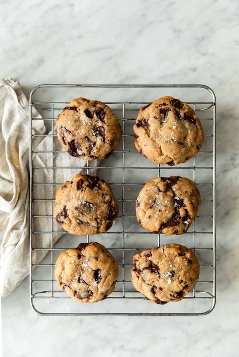
<path id="1" fill-rule="evenodd" d="M 4 356 L 238 356 L 235 0 L 4 2 L 1 76 L 40 83 L 203 83 L 217 96 L 217 304 L 195 318 L 40 317 L 28 280 L 2 303 Z"/>

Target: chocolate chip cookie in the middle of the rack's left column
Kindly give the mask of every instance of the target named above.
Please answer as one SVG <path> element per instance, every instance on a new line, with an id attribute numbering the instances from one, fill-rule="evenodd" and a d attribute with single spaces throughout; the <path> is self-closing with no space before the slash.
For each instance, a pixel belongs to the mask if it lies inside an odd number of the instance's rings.
<path id="1" fill-rule="evenodd" d="M 54 218 L 75 235 L 108 231 L 118 213 L 113 192 L 98 176 L 78 173 L 59 187 L 55 197 Z"/>

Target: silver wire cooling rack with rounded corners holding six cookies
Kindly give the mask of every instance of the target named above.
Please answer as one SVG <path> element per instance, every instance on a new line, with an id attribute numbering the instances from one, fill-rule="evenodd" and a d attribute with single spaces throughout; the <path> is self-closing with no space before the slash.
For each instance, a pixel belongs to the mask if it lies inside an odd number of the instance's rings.
<path id="1" fill-rule="evenodd" d="M 192 106 L 205 132 L 205 141 L 197 156 L 177 166 L 154 164 L 137 153 L 133 145 L 132 126 L 138 109 L 164 95 L 179 98 Z M 55 129 L 57 115 L 72 98 L 77 97 L 98 99 L 108 104 L 117 114 L 122 128 L 120 145 L 110 158 L 96 167 L 98 176 L 110 184 L 120 206 L 120 214 L 109 232 L 97 236 L 65 234 L 53 219 L 54 197 L 62 183 L 58 182 L 59 172 L 64 172 L 70 180 L 83 168 L 59 165 L 59 157 L 69 154 L 59 145 Z M 33 107 L 41 117 L 34 114 Z M 39 135 L 34 131 L 34 124 L 42 119 L 50 133 Z M 196 316 L 212 311 L 216 298 L 215 119 L 216 98 L 211 88 L 205 85 L 46 84 L 31 91 L 30 303 L 38 314 Z M 38 147 L 34 144 L 35 140 L 40 142 L 41 139 L 47 141 L 44 150 L 41 144 Z M 36 155 L 40 157 L 37 164 L 34 161 Z M 90 173 L 90 170 L 90 163 L 87 162 L 85 172 Z M 43 177 L 42 181 L 36 179 L 36 173 L 37 177 Z M 198 216 L 188 232 L 171 237 L 142 229 L 137 224 L 134 210 L 135 199 L 147 181 L 170 175 L 185 176 L 194 181 L 202 197 Z M 39 226 L 43 227 L 41 231 L 36 230 Z M 119 263 L 120 274 L 115 292 L 107 299 L 97 304 L 80 304 L 60 290 L 54 276 L 54 265 L 62 251 L 90 241 L 98 241 L 107 247 Z M 196 288 L 182 301 L 157 305 L 147 301 L 133 288 L 130 281 L 131 262 L 138 251 L 167 243 L 180 243 L 192 248 L 199 258 L 201 273 Z M 43 253 L 47 253 L 46 257 L 39 263 L 33 263 L 33 257 Z"/>

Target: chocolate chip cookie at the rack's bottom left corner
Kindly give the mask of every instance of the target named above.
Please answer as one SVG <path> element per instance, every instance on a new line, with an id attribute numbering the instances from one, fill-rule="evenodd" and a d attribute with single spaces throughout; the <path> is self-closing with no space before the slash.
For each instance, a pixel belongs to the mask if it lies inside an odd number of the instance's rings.
<path id="1" fill-rule="evenodd" d="M 119 267 L 101 244 L 81 243 L 59 255 L 55 276 L 71 299 L 87 303 L 105 299 L 115 289 Z"/>

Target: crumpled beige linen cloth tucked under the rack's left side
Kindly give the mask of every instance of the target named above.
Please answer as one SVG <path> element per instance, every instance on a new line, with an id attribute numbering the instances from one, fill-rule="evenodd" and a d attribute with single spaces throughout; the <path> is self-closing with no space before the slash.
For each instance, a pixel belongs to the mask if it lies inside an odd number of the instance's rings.
<path id="1" fill-rule="evenodd" d="M 12 78 L 0 79 L 0 243 L 1 243 L 1 296 L 8 296 L 29 272 L 29 103 L 18 82 Z M 41 118 L 33 108 L 33 117 Z M 33 120 L 34 134 L 45 132 L 43 120 Z M 56 140 L 56 141 L 55 141 Z M 62 150 L 54 138 L 55 150 Z M 50 138 L 34 137 L 33 150 L 51 150 Z M 35 154 L 34 166 L 50 166 L 51 154 Z M 91 166 L 99 164 L 93 160 Z M 56 154 L 54 166 L 73 166 L 75 169 L 54 170 L 55 182 L 65 182 L 84 169 L 86 161 L 73 158 L 67 153 Z M 95 174 L 96 169 L 90 169 Z M 51 182 L 52 170 L 36 169 L 33 172 L 34 182 Z M 57 187 L 56 187 L 57 189 Z M 52 198 L 50 186 L 34 186 L 33 198 Z M 52 214 L 52 202 L 37 202 L 34 214 Z M 33 219 L 33 231 L 51 230 L 52 218 Z M 54 224 L 55 225 L 55 224 Z M 59 225 L 58 225 L 59 226 Z M 56 227 L 56 225 L 54 226 Z M 55 229 L 55 228 L 54 228 Z M 55 229 L 56 230 L 56 229 Z M 54 243 L 62 236 L 55 235 Z M 51 235 L 39 234 L 33 237 L 36 248 L 51 247 Z M 33 251 L 33 263 L 38 263 L 47 251 Z"/>

